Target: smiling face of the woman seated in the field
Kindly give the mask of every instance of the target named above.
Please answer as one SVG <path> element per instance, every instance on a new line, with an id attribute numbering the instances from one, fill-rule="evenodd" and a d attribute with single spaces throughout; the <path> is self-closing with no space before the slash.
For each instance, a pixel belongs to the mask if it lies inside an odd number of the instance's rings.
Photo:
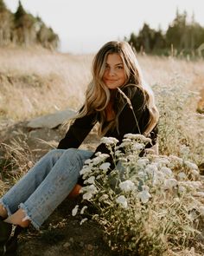
<path id="1" fill-rule="evenodd" d="M 117 89 L 124 84 L 126 80 L 124 64 L 122 58 L 117 53 L 107 56 L 105 72 L 102 79 L 109 89 Z"/>

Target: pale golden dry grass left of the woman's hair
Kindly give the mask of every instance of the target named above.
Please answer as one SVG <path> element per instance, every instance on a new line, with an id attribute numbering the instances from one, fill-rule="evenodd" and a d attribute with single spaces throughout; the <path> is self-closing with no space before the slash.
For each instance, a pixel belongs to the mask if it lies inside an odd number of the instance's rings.
<path id="1" fill-rule="evenodd" d="M 0 114 L 23 120 L 79 108 L 90 59 L 45 49 L 0 49 Z"/>

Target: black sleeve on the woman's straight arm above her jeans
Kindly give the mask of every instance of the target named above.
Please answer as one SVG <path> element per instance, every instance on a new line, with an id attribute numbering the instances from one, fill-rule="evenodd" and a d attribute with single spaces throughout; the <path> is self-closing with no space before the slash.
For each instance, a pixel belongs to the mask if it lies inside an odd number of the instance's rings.
<path id="1" fill-rule="evenodd" d="M 96 122 L 96 113 L 76 119 L 73 121 L 73 124 L 71 124 L 67 134 L 60 141 L 57 148 L 79 148 L 80 144 L 84 141 L 86 135 L 90 133 Z"/>

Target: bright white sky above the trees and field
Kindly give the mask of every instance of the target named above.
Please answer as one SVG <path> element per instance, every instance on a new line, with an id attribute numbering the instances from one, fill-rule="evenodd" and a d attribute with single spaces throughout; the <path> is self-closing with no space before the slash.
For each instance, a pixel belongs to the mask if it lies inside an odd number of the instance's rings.
<path id="1" fill-rule="evenodd" d="M 194 13 L 204 26 L 203 0 L 21 0 L 24 9 L 40 16 L 60 36 L 60 51 L 95 53 L 112 40 L 137 34 L 148 23 L 150 28 L 167 30 L 176 9 Z M 18 0 L 4 0 L 15 12 Z"/>

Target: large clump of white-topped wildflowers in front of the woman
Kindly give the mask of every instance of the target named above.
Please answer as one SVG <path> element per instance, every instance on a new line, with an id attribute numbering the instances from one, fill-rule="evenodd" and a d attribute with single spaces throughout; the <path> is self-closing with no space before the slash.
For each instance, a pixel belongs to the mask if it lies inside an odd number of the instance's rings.
<path id="1" fill-rule="evenodd" d="M 98 209 L 92 219 L 103 227 L 112 250 L 163 255 L 189 246 L 204 215 L 198 167 L 175 155 L 140 157 L 150 141 L 143 135 L 125 135 L 119 146 L 114 138 L 102 141 L 115 148 L 115 168 L 109 172 L 108 154 L 86 161 L 80 172 L 86 184 L 81 193 Z"/>

